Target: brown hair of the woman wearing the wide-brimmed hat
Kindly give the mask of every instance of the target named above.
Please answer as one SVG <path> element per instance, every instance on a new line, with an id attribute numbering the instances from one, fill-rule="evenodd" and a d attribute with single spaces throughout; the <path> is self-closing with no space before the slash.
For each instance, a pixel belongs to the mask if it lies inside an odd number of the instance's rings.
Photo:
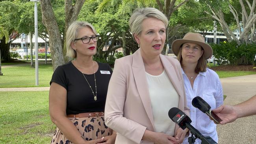
<path id="1" fill-rule="evenodd" d="M 178 61 L 180 61 L 180 65 L 183 67 L 183 65 L 182 65 L 182 55 L 181 55 L 182 45 L 180 46 L 180 50 L 178 52 L 177 59 L 178 59 Z M 201 48 L 202 48 L 202 46 L 201 46 Z M 202 50 L 203 50 L 203 48 L 202 48 Z M 195 67 L 195 72 L 197 74 L 199 72 L 205 72 L 206 68 L 207 68 L 206 59 L 204 57 L 204 54 L 202 54 L 202 56 L 197 61 L 197 66 Z"/>

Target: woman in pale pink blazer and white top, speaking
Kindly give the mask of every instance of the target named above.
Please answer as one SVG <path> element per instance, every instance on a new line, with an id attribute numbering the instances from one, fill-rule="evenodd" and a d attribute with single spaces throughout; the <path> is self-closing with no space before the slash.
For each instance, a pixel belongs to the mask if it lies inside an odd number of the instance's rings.
<path id="1" fill-rule="evenodd" d="M 105 122 L 117 131 L 115 144 L 180 144 L 188 129 L 171 121 L 178 107 L 189 114 L 180 63 L 161 55 L 168 19 L 155 8 L 137 9 L 130 30 L 140 48 L 115 61 Z"/>

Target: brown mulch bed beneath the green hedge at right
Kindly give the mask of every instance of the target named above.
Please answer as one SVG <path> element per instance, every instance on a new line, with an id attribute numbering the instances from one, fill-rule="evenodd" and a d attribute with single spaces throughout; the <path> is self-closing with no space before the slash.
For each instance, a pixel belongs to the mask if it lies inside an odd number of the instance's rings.
<path id="1" fill-rule="evenodd" d="M 252 71 L 256 72 L 256 66 L 238 65 L 238 66 L 214 66 L 210 67 L 214 71 Z"/>

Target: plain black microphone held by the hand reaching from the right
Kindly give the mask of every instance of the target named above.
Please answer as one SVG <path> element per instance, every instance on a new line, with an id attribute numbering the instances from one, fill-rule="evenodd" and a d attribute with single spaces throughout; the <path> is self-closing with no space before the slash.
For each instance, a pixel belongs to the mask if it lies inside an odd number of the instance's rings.
<path id="1" fill-rule="evenodd" d="M 193 98 L 192 105 L 198 108 L 203 113 L 206 113 L 211 119 L 214 120 L 215 123 L 219 124 L 219 122 L 222 121 L 219 116 L 211 111 L 211 106 L 207 102 L 205 102 L 200 96 L 196 96 L 195 98 Z"/>

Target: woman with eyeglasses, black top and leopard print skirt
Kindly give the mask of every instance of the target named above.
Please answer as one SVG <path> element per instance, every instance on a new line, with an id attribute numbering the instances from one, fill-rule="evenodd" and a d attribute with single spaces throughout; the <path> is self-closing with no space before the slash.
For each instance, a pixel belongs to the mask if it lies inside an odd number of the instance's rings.
<path id="1" fill-rule="evenodd" d="M 87 22 L 73 22 L 66 35 L 67 56 L 58 66 L 49 92 L 50 118 L 57 128 L 51 144 L 114 144 L 116 134 L 104 122 L 112 69 L 93 61 L 98 35 Z"/>

